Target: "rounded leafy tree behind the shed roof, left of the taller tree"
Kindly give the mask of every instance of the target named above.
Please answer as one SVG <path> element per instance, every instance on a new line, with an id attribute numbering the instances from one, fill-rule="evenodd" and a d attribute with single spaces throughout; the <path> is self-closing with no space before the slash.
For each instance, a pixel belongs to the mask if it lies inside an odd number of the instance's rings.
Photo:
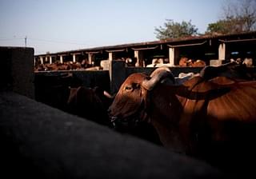
<path id="1" fill-rule="evenodd" d="M 166 19 L 164 26 L 155 27 L 156 38 L 162 40 L 166 38 L 182 38 L 198 34 L 198 28 L 189 22 L 174 22 L 172 19 Z"/>

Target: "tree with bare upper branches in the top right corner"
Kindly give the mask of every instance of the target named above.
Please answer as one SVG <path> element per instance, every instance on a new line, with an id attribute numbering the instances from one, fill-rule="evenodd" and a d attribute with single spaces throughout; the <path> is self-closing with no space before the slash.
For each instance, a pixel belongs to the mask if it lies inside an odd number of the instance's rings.
<path id="1" fill-rule="evenodd" d="M 223 18 L 210 23 L 206 34 L 233 34 L 256 30 L 256 0 L 226 1 Z"/>

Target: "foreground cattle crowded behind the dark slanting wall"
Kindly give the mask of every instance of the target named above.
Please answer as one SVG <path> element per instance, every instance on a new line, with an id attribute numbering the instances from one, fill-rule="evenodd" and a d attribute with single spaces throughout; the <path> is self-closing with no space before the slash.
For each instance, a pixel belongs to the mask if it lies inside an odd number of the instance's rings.
<path id="1" fill-rule="evenodd" d="M 246 66 L 206 66 L 200 74 L 182 78 L 159 67 L 150 75 L 131 74 L 115 95 L 98 87 L 66 91 L 69 113 L 229 173 L 254 171 L 256 81 Z"/>

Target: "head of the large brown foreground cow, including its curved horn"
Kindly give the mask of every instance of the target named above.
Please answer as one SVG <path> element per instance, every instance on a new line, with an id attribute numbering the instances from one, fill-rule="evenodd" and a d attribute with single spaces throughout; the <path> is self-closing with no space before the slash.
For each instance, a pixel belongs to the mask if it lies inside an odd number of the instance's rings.
<path id="1" fill-rule="evenodd" d="M 126 122 L 146 121 L 148 93 L 154 87 L 167 79 L 174 82 L 174 75 L 167 67 L 154 70 L 150 76 L 146 74 L 131 74 L 120 87 L 109 112 L 111 121 Z"/>

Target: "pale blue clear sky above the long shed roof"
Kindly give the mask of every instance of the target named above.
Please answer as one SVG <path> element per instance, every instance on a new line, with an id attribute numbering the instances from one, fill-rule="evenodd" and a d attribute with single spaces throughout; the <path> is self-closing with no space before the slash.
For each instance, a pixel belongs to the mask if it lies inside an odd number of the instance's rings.
<path id="1" fill-rule="evenodd" d="M 221 18 L 224 0 L 1 0 L 0 46 L 35 54 L 157 40 L 166 19 L 204 33 Z"/>

